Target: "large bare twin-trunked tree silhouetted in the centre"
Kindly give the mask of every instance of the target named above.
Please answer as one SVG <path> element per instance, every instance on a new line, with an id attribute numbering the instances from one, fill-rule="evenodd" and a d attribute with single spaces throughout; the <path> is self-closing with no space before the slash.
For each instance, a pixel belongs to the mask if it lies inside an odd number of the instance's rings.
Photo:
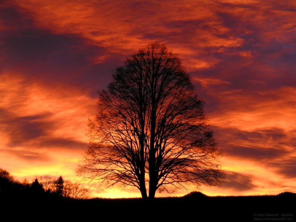
<path id="1" fill-rule="evenodd" d="M 99 92 L 89 121 L 90 146 L 79 174 L 107 184 L 137 187 L 143 198 L 186 184 L 219 185 L 213 132 L 178 55 L 158 42 L 117 68 Z M 171 188 L 174 187 L 173 190 Z"/>

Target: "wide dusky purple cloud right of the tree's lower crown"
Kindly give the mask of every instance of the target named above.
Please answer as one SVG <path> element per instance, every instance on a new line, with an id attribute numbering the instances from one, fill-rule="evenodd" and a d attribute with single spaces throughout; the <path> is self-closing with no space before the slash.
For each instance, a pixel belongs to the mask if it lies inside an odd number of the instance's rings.
<path id="1" fill-rule="evenodd" d="M 290 145 L 295 138 L 290 137 L 281 128 L 243 131 L 236 128 L 213 127 L 219 147 L 226 156 L 236 156 L 254 161 L 272 162 L 282 158 L 290 151 L 284 145 Z M 266 147 L 272 142 L 272 147 Z M 261 163 L 264 163 L 261 162 Z"/>

